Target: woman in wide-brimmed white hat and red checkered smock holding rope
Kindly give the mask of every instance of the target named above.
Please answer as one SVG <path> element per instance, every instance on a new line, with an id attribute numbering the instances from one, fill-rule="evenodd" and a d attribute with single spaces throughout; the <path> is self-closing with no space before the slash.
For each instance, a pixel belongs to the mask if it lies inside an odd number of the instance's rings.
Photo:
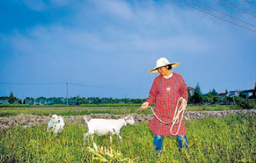
<path id="1" fill-rule="evenodd" d="M 164 123 L 170 123 L 174 118 L 175 108 L 180 97 L 185 99 L 182 100 L 182 105 L 187 106 L 187 85 L 181 75 L 171 70 L 179 65 L 180 63 L 177 62 L 170 63 L 167 58 L 159 58 L 156 67 L 149 71 L 149 73 L 159 72 L 160 75 L 155 77 L 149 91 L 149 97 L 140 106 L 140 109 L 147 109 L 148 106 L 155 103 L 155 115 Z M 159 119 L 154 116 L 149 123 L 149 129 L 154 133 L 155 151 L 160 152 L 162 150 L 164 136 L 176 136 L 179 151 L 182 148 L 187 148 L 188 151 L 184 119 L 181 121 L 180 128 L 179 124 L 175 124 L 172 131 L 170 131 L 172 123 L 164 124 Z"/>

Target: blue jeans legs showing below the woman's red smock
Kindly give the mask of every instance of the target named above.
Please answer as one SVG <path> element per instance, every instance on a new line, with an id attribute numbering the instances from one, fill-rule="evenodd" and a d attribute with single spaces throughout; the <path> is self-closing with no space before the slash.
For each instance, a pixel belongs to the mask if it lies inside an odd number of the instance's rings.
<path id="1" fill-rule="evenodd" d="M 187 142 L 187 136 L 185 135 L 180 135 L 180 136 L 176 136 L 177 142 L 179 144 L 179 151 L 181 151 L 181 149 L 183 147 L 187 148 L 187 150 L 189 149 L 189 143 Z M 162 144 L 163 144 L 163 140 L 164 140 L 164 136 L 160 136 L 160 135 L 155 135 L 154 137 L 154 146 L 155 146 L 155 151 L 159 152 L 162 149 Z M 185 140 L 185 142 L 184 142 Z"/>

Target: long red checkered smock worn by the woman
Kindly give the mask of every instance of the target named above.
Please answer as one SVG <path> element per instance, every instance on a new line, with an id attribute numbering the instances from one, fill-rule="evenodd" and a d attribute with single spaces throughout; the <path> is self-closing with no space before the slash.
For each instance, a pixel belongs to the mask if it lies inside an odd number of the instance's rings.
<path id="1" fill-rule="evenodd" d="M 173 73 L 172 77 L 164 78 L 162 75 L 155 77 L 155 80 L 150 88 L 147 102 L 149 105 L 155 103 L 155 114 L 161 121 L 170 123 L 174 117 L 177 101 L 180 97 L 187 100 L 187 85 L 182 76 Z M 179 103 L 180 104 L 180 103 Z M 170 127 L 172 124 L 163 124 L 157 118 L 152 119 L 149 123 L 149 128 L 152 133 L 161 136 L 171 136 Z M 172 133 L 177 133 L 179 124 L 175 124 L 172 128 Z M 182 120 L 179 132 L 177 135 L 185 135 L 184 119 Z"/>

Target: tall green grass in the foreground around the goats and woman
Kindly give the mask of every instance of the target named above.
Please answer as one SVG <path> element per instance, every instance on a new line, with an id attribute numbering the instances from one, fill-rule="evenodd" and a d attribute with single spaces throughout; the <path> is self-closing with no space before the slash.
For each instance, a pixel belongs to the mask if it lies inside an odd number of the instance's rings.
<path id="1" fill-rule="evenodd" d="M 0 162 L 93 163 L 101 162 L 99 157 L 108 162 L 255 162 L 255 119 L 255 114 L 239 114 L 193 120 L 194 132 L 186 121 L 189 154 L 178 151 L 175 137 L 165 137 L 161 157 L 152 150 L 154 135 L 145 123 L 125 126 L 123 142 L 113 136 L 112 144 L 109 136 L 95 136 L 93 141 L 88 137 L 83 144 L 87 127 L 81 123 L 67 124 L 57 135 L 46 133 L 46 126 L 14 127 L 0 132 Z"/>

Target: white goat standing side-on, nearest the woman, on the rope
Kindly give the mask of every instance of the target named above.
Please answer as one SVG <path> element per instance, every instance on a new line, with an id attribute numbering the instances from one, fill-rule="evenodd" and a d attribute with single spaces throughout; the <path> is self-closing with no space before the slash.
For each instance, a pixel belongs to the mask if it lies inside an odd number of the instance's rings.
<path id="1" fill-rule="evenodd" d="M 84 120 L 87 123 L 88 132 L 84 134 L 84 142 L 86 140 L 86 136 L 97 134 L 99 136 L 110 134 L 110 141 L 112 142 L 112 135 L 116 134 L 119 139 L 122 141 L 122 137 L 120 135 L 120 129 L 122 126 L 126 126 L 127 123 L 134 125 L 134 118 L 132 116 L 126 116 L 122 119 L 91 119 L 87 121 L 86 116 L 84 116 Z"/>

